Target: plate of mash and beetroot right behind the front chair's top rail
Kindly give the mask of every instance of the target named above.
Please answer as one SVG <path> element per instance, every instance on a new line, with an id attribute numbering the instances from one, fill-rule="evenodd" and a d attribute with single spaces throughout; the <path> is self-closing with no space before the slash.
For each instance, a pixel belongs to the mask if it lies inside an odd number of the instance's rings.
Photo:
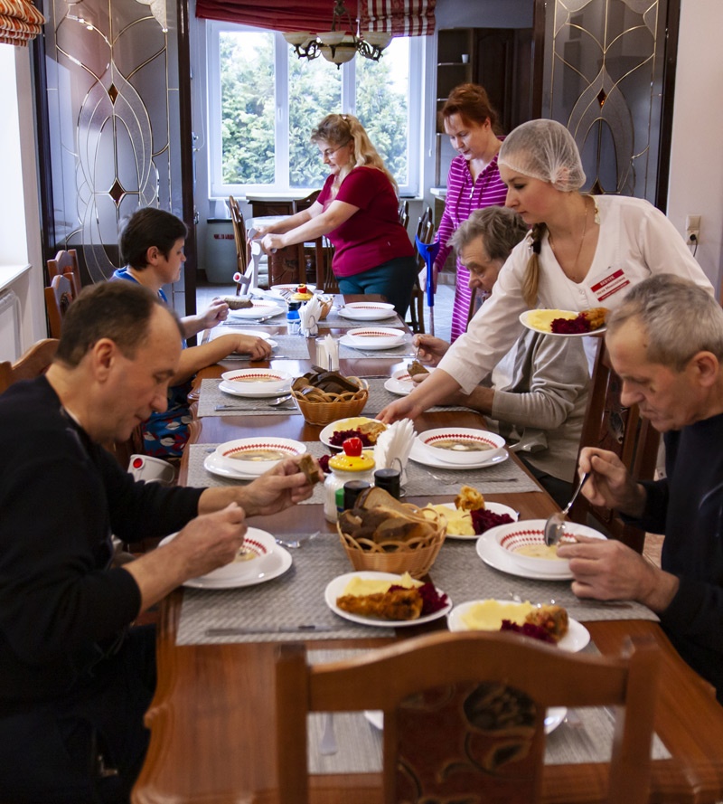
<path id="1" fill-rule="evenodd" d="M 447 626 L 450 631 L 515 631 L 570 653 L 590 641 L 587 628 L 562 606 L 530 601 L 466 601 L 449 612 Z"/>

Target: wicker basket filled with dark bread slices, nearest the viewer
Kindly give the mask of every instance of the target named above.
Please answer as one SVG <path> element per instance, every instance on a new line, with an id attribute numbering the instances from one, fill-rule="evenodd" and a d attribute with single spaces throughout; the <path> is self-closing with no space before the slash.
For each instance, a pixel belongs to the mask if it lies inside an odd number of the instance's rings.
<path id="1" fill-rule="evenodd" d="M 355 570 L 408 572 L 413 578 L 429 572 L 446 536 L 444 516 L 400 503 L 376 487 L 363 491 L 336 527 Z"/>

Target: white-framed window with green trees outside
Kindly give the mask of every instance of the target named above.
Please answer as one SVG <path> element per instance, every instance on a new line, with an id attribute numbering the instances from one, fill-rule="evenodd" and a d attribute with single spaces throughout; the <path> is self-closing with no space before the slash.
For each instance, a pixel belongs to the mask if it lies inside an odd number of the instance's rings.
<path id="1" fill-rule="evenodd" d="M 298 59 L 281 33 L 219 22 L 208 31 L 211 196 L 321 187 L 309 137 L 332 112 L 358 117 L 400 194 L 418 194 L 421 37 L 395 37 L 380 61 L 337 69 Z"/>

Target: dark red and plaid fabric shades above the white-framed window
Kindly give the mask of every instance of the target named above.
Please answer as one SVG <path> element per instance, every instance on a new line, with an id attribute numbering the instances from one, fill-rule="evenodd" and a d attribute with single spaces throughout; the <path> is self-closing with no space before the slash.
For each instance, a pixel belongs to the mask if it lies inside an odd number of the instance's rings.
<path id="1" fill-rule="evenodd" d="M 386 31 L 396 36 L 434 33 L 436 0 L 345 0 L 352 17 L 357 12 L 362 31 Z M 254 25 L 272 31 L 328 31 L 334 0 L 198 0 L 196 16 L 207 20 Z"/>

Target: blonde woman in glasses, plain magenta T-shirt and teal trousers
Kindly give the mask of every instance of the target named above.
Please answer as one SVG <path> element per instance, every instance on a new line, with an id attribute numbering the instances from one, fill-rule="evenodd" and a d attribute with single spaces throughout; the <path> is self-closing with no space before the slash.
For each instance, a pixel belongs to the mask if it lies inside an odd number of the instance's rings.
<path id="1" fill-rule="evenodd" d="M 259 232 L 265 251 L 326 235 L 342 293 L 378 293 L 404 317 L 417 275 L 414 248 L 399 223 L 397 183 L 352 115 L 328 115 L 311 141 L 330 175 L 308 208 Z"/>

